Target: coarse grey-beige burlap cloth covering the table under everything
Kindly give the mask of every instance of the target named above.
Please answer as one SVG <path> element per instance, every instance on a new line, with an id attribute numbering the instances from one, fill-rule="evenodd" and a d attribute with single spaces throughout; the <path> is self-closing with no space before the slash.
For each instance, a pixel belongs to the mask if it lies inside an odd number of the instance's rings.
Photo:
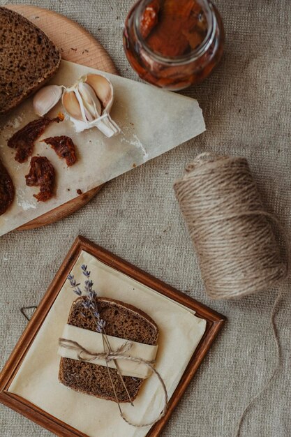
<path id="1" fill-rule="evenodd" d="M 104 45 L 122 75 L 137 80 L 121 42 L 132 0 L 13 3 L 33 3 L 76 20 Z M 207 299 L 174 198 L 174 179 L 202 151 L 246 156 L 269 210 L 278 214 L 290 232 L 290 1 L 216 3 L 227 37 L 223 63 L 204 84 L 185 91 L 202 105 L 207 133 L 106 184 L 87 207 L 65 221 L 40 230 L 11 232 L 0 240 L 1 365 L 26 326 L 20 307 L 39 302 L 78 234 L 227 316 L 225 329 L 163 432 L 171 437 L 232 436 L 244 406 L 260 390 L 276 361 L 269 324 L 275 290 L 237 302 Z M 276 317 L 284 365 L 248 413 L 242 436 L 291 435 L 290 316 L 289 283 Z M 1 406 L 0 411 L 1 437 L 52 435 L 8 408 Z"/>

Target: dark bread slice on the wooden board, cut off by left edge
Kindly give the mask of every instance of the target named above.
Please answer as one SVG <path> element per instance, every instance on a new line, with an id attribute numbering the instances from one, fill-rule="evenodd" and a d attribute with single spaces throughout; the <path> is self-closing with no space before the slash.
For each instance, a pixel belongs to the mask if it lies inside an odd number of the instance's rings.
<path id="1" fill-rule="evenodd" d="M 0 114 L 42 86 L 61 63 L 52 41 L 29 20 L 0 7 Z"/>

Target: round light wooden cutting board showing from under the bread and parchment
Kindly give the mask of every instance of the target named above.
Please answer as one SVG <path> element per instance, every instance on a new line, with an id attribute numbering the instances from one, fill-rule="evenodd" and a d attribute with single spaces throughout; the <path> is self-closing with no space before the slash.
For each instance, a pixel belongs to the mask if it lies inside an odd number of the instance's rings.
<path id="1" fill-rule="evenodd" d="M 15 10 L 28 20 L 36 24 L 59 47 L 61 57 L 66 61 L 75 62 L 84 66 L 98 68 L 107 73 L 118 74 L 112 59 L 98 41 L 83 29 L 79 24 L 59 15 L 52 10 L 27 5 L 6 5 L 6 8 Z M 97 186 L 87 193 L 64 203 L 52 211 L 35 218 L 29 223 L 20 226 L 18 230 L 39 228 L 65 218 L 86 205 L 98 193 L 102 186 Z"/>

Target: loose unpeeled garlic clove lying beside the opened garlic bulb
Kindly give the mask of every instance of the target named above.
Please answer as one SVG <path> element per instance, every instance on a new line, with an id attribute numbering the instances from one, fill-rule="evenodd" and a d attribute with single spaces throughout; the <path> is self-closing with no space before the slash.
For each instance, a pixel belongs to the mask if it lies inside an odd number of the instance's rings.
<path id="1" fill-rule="evenodd" d="M 61 94 L 63 93 L 63 87 L 59 85 L 48 85 L 41 88 L 33 97 L 33 110 L 36 115 L 43 117 L 49 112 L 55 105 L 57 105 Z"/>

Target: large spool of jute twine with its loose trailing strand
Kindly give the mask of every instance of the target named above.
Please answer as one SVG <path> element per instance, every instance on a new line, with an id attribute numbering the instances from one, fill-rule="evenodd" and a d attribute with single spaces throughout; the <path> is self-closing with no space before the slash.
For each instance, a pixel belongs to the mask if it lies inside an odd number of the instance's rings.
<path id="1" fill-rule="evenodd" d="M 209 297 L 231 299 L 267 290 L 288 276 L 290 251 L 278 220 L 262 205 L 245 158 L 201 154 L 174 184 L 177 200 L 197 251 Z M 273 228 L 281 232 L 284 261 Z M 235 436 L 251 406 L 274 381 L 282 364 L 276 311 L 282 290 L 271 310 L 276 365 L 267 382 L 244 408 Z"/>

